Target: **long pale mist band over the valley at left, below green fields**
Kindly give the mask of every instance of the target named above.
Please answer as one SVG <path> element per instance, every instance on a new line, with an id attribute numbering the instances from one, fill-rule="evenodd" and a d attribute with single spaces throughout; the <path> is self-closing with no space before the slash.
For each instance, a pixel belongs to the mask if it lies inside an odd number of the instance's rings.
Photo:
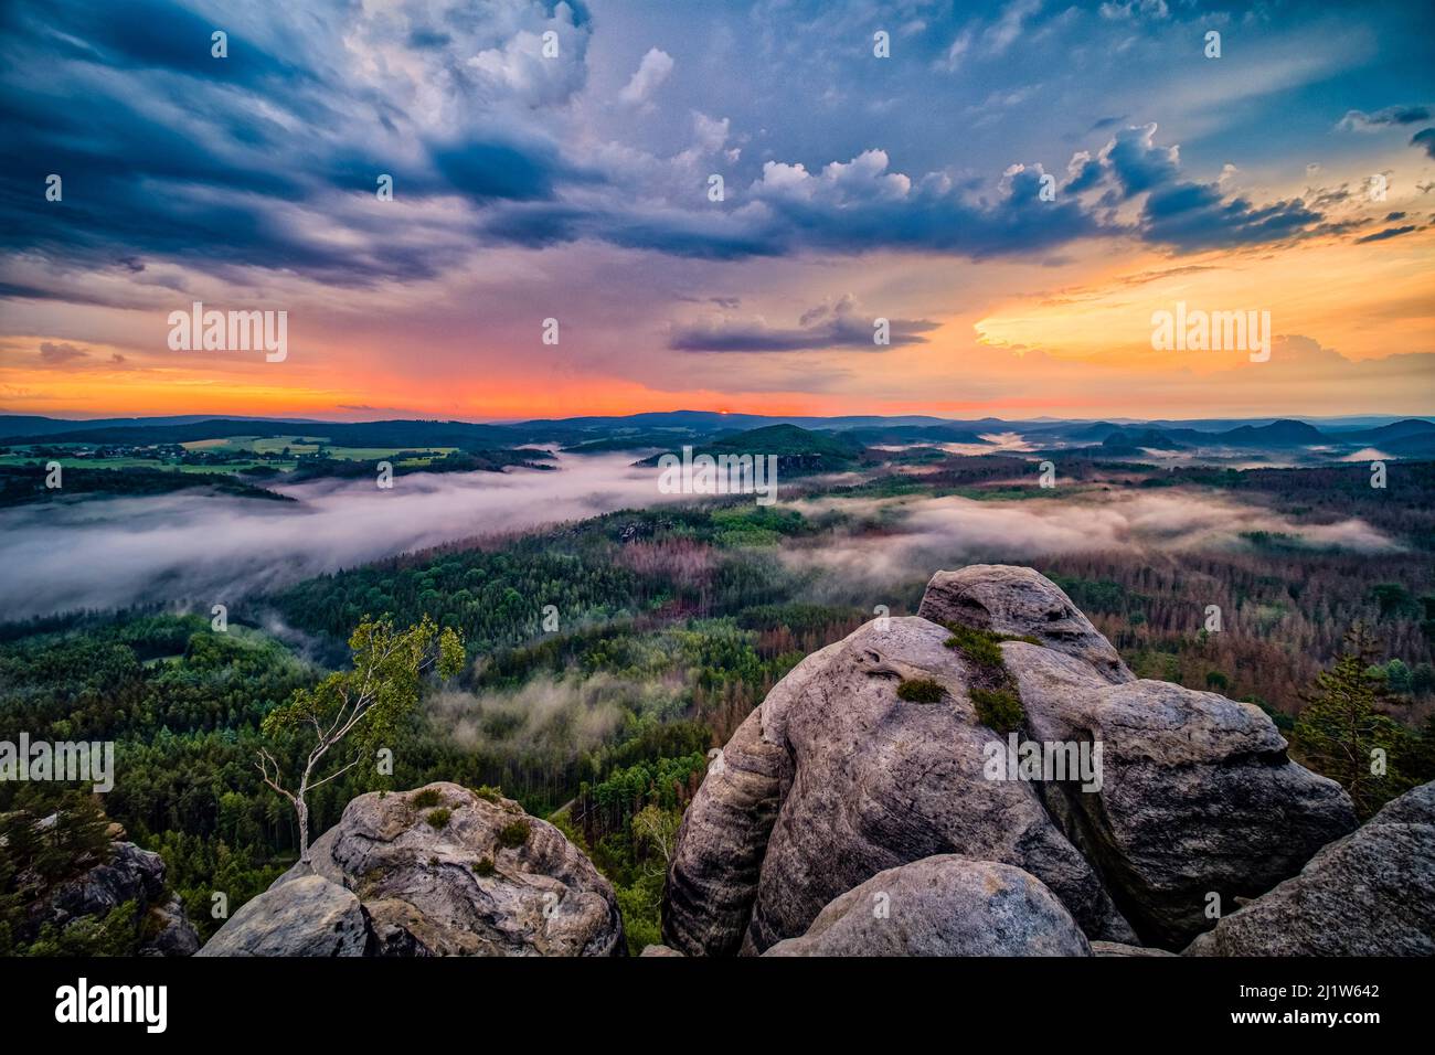
<path id="1" fill-rule="evenodd" d="M 0 622 L 75 609 L 208 610 L 310 576 L 474 535 L 680 498 L 631 456 L 558 455 L 554 471 L 409 474 L 273 489 L 297 502 L 179 492 L 0 511 Z"/>

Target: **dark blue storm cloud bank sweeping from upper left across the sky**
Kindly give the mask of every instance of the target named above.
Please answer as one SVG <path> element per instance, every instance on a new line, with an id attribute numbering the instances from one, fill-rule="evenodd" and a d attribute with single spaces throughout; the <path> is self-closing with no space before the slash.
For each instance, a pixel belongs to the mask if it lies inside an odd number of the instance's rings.
<path id="1" fill-rule="evenodd" d="M 591 20 L 575 0 L 201 10 L 179 0 L 0 9 L 0 247 L 80 270 L 168 258 L 369 286 L 441 274 L 492 244 L 598 241 L 710 260 L 884 250 L 992 258 L 1106 235 L 1194 251 L 1322 230 L 1310 202 L 1225 198 L 1214 182 L 1182 178 L 1178 149 L 1155 141 L 1155 125 L 1122 129 L 1116 116 L 1091 125 L 1114 129 L 1111 142 L 1072 159 L 1055 201 L 1040 197 L 1039 167 L 1012 165 L 997 182 L 1004 162 L 989 158 L 926 171 L 867 149 L 808 171 L 775 161 L 804 144 L 775 141 L 761 161 L 752 152 L 739 162 L 740 151 L 723 152 L 735 141 L 689 161 L 692 151 L 608 142 L 611 129 L 585 142 L 564 123 L 588 85 Z M 1046 17 L 1040 4 L 987 6 L 966 27 L 973 60 L 994 62 Z M 821 23 L 821 9 L 808 20 Z M 210 53 L 217 26 L 230 34 L 227 59 Z M 563 40 L 557 60 L 534 50 L 547 29 Z M 910 46 L 947 53 L 957 29 L 934 17 Z M 748 73 L 733 60 L 735 76 Z M 1352 111 L 1346 122 L 1405 126 L 1428 109 Z M 1413 144 L 1435 151 L 1429 135 Z M 705 179 L 709 164 L 730 167 L 725 204 L 673 191 Z M 989 177 L 973 177 L 973 164 Z M 52 172 L 65 181 L 60 202 L 43 198 Z M 379 174 L 393 177 L 392 207 L 375 200 Z M 1137 195 L 1147 195 L 1138 221 L 1118 222 L 1111 207 Z"/>

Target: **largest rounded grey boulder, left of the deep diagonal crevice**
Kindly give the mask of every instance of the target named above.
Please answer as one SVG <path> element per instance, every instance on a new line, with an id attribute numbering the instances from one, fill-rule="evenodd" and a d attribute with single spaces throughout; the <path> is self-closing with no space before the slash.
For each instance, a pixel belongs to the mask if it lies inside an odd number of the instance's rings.
<path id="1" fill-rule="evenodd" d="M 773 688 L 689 807 L 669 946 L 761 953 L 805 933 L 838 894 L 937 854 L 1019 867 L 1088 934 L 1135 939 L 1038 789 L 984 778 L 984 748 L 1002 738 L 977 721 L 949 636 L 918 617 L 868 623 Z M 937 682 L 941 699 L 900 698 L 907 679 Z"/>

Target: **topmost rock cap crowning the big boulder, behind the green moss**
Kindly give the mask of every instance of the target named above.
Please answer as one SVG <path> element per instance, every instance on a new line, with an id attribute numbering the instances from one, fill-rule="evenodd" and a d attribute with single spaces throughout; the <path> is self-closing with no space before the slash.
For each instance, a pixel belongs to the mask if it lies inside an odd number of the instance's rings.
<path id="1" fill-rule="evenodd" d="M 1135 680 L 1072 599 L 1032 568 L 969 564 L 959 571 L 938 571 L 927 583 L 917 614 L 933 623 L 1036 637 L 1048 649 L 1082 660 L 1108 682 Z"/>

